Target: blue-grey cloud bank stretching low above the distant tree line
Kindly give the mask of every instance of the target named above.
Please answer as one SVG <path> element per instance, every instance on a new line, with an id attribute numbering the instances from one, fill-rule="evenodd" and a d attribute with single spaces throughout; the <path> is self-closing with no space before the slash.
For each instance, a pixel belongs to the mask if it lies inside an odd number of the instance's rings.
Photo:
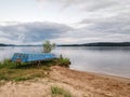
<path id="1" fill-rule="evenodd" d="M 122 42 L 130 40 L 129 31 L 130 27 L 127 23 L 114 24 L 105 20 L 93 22 L 92 25 L 81 28 L 55 23 L 25 23 L 0 26 L 0 43 L 39 44 L 44 40 L 51 40 L 57 44 Z"/>

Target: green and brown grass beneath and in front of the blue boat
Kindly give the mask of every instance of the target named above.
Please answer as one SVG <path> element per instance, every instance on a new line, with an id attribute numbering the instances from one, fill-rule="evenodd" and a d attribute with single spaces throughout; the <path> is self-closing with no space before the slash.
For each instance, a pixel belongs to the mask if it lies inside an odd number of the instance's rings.
<path id="1" fill-rule="evenodd" d="M 41 61 L 38 67 L 35 63 L 24 63 L 16 65 L 16 63 L 5 59 L 0 63 L 0 81 L 26 81 L 35 78 L 48 77 L 51 66 L 62 65 L 64 58 Z"/>

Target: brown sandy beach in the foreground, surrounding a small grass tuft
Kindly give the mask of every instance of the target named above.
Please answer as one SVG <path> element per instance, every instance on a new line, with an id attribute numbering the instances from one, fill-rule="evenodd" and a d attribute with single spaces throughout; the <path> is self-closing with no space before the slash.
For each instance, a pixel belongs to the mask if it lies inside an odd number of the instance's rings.
<path id="1" fill-rule="evenodd" d="M 52 97 L 51 86 L 69 91 L 73 97 L 130 97 L 130 79 L 70 70 L 53 66 L 47 78 L 0 85 L 0 97 Z"/>

